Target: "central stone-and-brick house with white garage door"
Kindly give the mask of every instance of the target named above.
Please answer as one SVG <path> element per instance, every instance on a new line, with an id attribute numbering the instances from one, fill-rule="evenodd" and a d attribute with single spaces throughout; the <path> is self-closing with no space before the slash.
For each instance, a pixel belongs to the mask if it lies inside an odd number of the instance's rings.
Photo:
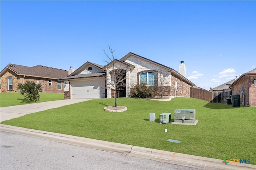
<path id="1" fill-rule="evenodd" d="M 162 95 L 168 97 L 190 97 L 190 87 L 195 85 L 174 69 L 131 52 L 113 62 L 116 69 L 124 71 L 126 80 L 126 86 L 120 91 L 119 97 L 130 97 L 130 89 L 140 81 L 152 86 L 161 83 L 164 87 Z M 64 98 L 114 97 L 113 89 L 106 88 L 107 82 L 112 81 L 112 70 L 111 63 L 105 66 L 91 62 L 84 63 L 68 77 L 60 79 L 64 81 Z M 163 82 L 160 82 L 161 80 Z"/>

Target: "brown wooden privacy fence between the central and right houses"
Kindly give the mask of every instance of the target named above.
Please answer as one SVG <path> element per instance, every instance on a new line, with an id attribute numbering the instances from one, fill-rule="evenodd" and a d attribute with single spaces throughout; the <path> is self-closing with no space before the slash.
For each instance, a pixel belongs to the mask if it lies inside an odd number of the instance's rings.
<path id="1" fill-rule="evenodd" d="M 212 103 L 227 103 L 227 98 L 230 98 L 230 95 L 232 95 L 232 91 L 210 92 L 204 89 L 190 87 L 190 97 Z"/>

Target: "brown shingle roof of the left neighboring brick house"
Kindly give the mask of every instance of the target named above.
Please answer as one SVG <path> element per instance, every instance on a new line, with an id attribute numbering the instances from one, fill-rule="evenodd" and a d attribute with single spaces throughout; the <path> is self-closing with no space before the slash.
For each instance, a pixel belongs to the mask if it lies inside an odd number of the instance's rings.
<path id="1" fill-rule="evenodd" d="M 41 77 L 48 79 L 60 79 L 68 75 L 68 71 L 53 67 L 47 67 L 42 65 L 28 67 L 24 65 L 9 64 L 4 68 L 3 71 L 1 71 L 1 76 L 6 69 L 12 70 L 17 75 L 26 75 L 31 77 Z"/>

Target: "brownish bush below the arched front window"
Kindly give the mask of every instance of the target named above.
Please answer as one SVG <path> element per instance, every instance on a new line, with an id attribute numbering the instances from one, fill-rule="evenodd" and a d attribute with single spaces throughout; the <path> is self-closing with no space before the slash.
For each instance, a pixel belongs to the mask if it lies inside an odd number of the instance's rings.
<path id="1" fill-rule="evenodd" d="M 131 88 L 131 97 L 153 98 L 156 95 L 156 87 L 147 86 L 146 83 L 141 82 Z"/>

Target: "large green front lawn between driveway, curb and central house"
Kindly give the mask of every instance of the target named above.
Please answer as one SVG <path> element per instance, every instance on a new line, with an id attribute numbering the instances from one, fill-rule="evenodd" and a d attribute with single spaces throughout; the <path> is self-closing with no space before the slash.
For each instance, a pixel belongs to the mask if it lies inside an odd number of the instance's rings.
<path id="1" fill-rule="evenodd" d="M 256 164 L 256 108 L 232 107 L 193 98 L 172 101 L 119 98 L 125 112 L 103 110 L 114 99 L 94 99 L 22 116 L 2 124 L 94 138 L 209 158 L 250 159 Z M 159 124 L 159 115 L 196 109 L 196 126 Z M 149 113 L 156 121 L 149 121 Z M 168 132 L 164 132 L 164 128 Z M 180 140 L 180 143 L 168 142 Z"/>

